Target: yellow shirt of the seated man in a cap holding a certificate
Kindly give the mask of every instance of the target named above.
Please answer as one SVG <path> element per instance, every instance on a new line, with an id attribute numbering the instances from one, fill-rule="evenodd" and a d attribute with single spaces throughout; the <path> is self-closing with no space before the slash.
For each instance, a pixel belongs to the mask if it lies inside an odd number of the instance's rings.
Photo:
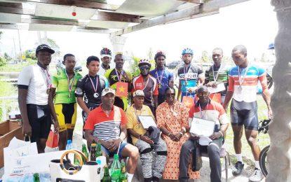
<path id="1" fill-rule="evenodd" d="M 137 113 L 135 113 L 134 105 L 130 106 L 126 110 L 126 117 L 128 119 L 128 123 L 126 123 L 127 129 L 133 129 L 138 134 L 145 134 L 147 130 L 144 130 L 144 127 L 142 127 L 142 123 L 140 123 L 137 120 L 137 116 L 152 116 L 154 118 L 153 113 L 151 113 L 151 109 L 149 109 L 149 106 L 142 105 L 141 110 L 136 110 Z M 131 136 L 131 139 L 133 139 L 133 144 L 135 145 L 137 143 L 137 138 Z"/>

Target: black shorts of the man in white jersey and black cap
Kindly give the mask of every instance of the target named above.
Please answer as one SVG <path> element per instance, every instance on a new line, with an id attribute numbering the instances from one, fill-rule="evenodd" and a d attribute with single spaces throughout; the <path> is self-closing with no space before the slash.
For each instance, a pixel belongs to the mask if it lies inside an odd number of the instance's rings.
<path id="1" fill-rule="evenodd" d="M 51 116 L 48 105 L 27 104 L 27 116 L 29 125 L 32 127 L 31 142 L 39 139 L 48 139 L 50 133 Z"/>

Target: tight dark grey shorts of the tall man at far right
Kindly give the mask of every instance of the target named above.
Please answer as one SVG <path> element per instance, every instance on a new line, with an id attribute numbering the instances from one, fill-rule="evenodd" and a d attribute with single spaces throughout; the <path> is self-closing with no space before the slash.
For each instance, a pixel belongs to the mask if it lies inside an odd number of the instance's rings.
<path id="1" fill-rule="evenodd" d="M 257 102 L 231 101 L 231 125 L 244 125 L 247 130 L 256 130 L 259 127 L 257 117 Z"/>

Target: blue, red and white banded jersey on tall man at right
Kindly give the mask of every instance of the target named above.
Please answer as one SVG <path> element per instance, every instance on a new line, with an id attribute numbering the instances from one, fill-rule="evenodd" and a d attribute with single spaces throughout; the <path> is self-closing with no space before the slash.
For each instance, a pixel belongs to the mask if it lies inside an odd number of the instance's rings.
<path id="1" fill-rule="evenodd" d="M 247 73 L 245 73 L 247 71 Z M 261 82 L 263 92 L 268 89 L 266 83 L 266 71 L 259 66 L 250 65 L 247 68 L 240 69 L 243 83 L 239 83 L 238 66 L 229 70 L 229 91 L 234 92 L 234 99 L 238 102 L 255 102 L 257 101 L 257 83 Z"/>

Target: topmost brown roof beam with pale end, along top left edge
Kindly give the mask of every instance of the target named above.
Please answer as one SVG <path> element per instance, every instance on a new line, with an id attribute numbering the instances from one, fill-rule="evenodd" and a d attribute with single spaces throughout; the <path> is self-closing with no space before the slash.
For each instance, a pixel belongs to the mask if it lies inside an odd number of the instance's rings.
<path id="1" fill-rule="evenodd" d="M 119 6 L 108 3 L 98 3 L 88 0 L 6 0 L 8 2 L 18 2 L 18 3 L 48 3 L 56 4 L 62 6 L 76 6 L 81 8 L 95 8 L 102 10 L 116 10 Z"/>

